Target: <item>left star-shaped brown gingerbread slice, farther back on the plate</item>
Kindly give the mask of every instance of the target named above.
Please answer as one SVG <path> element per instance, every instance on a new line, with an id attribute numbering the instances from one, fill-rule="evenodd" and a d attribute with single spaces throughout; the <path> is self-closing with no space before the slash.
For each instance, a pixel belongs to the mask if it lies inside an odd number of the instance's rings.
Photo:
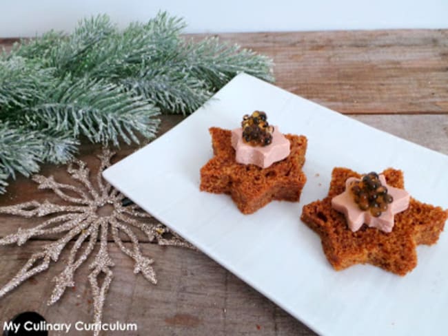
<path id="1" fill-rule="evenodd" d="M 287 158 L 267 168 L 236 162 L 232 132 L 210 128 L 214 157 L 201 168 L 201 190 L 227 193 L 242 213 L 254 213 L 272 200 L 298 202 L 306 182 L 307 138 L 285 134 L 290 142 Z"/>

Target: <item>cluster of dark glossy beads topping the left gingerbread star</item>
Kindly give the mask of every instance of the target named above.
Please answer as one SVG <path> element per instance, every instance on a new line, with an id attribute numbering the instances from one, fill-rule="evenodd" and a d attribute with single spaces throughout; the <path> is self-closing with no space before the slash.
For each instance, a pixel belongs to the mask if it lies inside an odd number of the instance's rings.
<path id="1" fill-rule="evenodd" d="M 251 115 L 245 114 L 241 122 L 243 139 L 252 146 L 267 146 L 272 143 L 274 127 L 267 123 L 265 112 L 255 111 Z"/>

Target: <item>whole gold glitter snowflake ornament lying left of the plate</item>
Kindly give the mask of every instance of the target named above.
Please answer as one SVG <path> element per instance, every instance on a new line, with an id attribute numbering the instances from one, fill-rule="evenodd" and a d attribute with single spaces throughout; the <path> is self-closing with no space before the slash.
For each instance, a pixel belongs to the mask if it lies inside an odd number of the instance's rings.
<path id="1" fill-rule="evenodd" d="M 61 234 L 61 238 L 46 244 L 42 251 L 34 253 L 30 257 L 10 282 L 0 289 L 0 297 L 33 275 L 48 269 L 51 261 L 57 262 L 66 244 L 74 240 L 65 269 L 53 279 L 55 285 L 48 304 L 54 304 L 61 298 L 65 288 L 74 286 L 75 271 L 88 260 L 96 244 L 99 244 L 99 251 L 90 264 L 91 272 L 88 278 L 94 303 L 94 323 L 101 324 L 105 297 L 110 282 L 112 282 L 112 267 L 114 266 L 108 253 L 108 236 L 112 236 L 112 240 L 119 246 L 119 249 L 134 260 L 134 273 L 142 273 L 143 277 L 152 284 L 157 283 L 156 273 L 152 268 L 154 260 L 141 253 L 139 240 L 131 227 L 143 231 L 150 242 L 160 245 L 192 247 L 174 232 L 170 232 L 170 237 L 165 238 L 165 233 L 169 233 L 169 230 L 162 224 L 149 223 L 148 218 L 151 216 L 136 204 L 123 205 L 124 196 L 101 177 L 101 172 L 110 166 L 112 156 L 114 153 L 109 149 L 103 149 L 98 156 L 101 165 L 94 177 L 96 181 L 90 179 L 90 169 L 81 160 L 74 160 L 67 169 L 74 182 L 78 182 L 77 185 L 59 183 L 52 176 L 33 176 L 39 189 L 51 189 L 61 200 L 68 203 L 67 205 L 54 204 L 48 200 L 43 202 L 34 200 L 9 207 L 0 207 L 0 213 L 23 218 L 50 217 L 31 229 L 19 228 L 17 233 L 0 239 L 0 245 L 16 243 L 21 246 L 33 237 Z M 96 187 L 94 182 L 96 182 Z M 110 205 L 112 211 L 108 216 L 101 216 L 99 210 L 107 204 Z M 128 237 L 132 243 L 132 249 L 125 246 L 121 235 Z M 84 247 L 83 251 L 77 257 L 81 246 Z M 101 276 L 103 276 L 103 280 L 100 284 Z M 96 330 L 94 335 L 98 334 L 99 331 Z"/>

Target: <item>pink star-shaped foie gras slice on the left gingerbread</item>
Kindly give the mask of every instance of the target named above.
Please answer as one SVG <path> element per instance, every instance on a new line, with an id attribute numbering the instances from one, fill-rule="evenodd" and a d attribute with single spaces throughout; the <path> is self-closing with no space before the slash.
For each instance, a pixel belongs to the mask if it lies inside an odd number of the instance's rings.
<path id="1" fill-rule="evenodd" d="M 232 147 L 236 151 L 236 162 L 243 165 L 257 165 L 261 168 L 267 168 L 274 162 L 283 160 L 291 151 L 290 143 L 278 127 L 274 127 L 272 134 L 272 143 L 267 146 L 252 146 L 243 140 L 243 129 L 232 130 Z"/>

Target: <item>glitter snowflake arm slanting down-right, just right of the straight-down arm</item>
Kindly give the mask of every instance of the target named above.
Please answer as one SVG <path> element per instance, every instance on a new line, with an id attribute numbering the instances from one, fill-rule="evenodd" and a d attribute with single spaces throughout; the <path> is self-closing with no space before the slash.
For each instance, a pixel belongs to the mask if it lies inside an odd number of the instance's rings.
<path id="1" fill-rule="evenodd" d="M 129 229 L 129 227 L 126 227 L 125 225 L 119 223 L 116 220 L 112 220 L 110 224 L 112 226 L 112 238 L 114 238 L 114 242 L 119 246 L 121 251 L 127 254 L 135 262 L 134 274 L 141 272 L 143 276 L 146 278 L 146 280 L 152 282 L 153 284 L 156 284 L 157 283 L 156 273 L 154 272 L 154 269 L 152 269 L 151 266 L 154 263 L 154 260 L 145 257 L 141 253 L 139 248 L 139 240 L 136 238 L 131 229 Z M 128 237 L 130 238 L 132 242 L 132 250 L 128 249 L 128 247 L 126 247 L 125 244 L 123 244 L 123 241 L 121 240 L 119 235 L 119 230 L 128 235 Z"/>

